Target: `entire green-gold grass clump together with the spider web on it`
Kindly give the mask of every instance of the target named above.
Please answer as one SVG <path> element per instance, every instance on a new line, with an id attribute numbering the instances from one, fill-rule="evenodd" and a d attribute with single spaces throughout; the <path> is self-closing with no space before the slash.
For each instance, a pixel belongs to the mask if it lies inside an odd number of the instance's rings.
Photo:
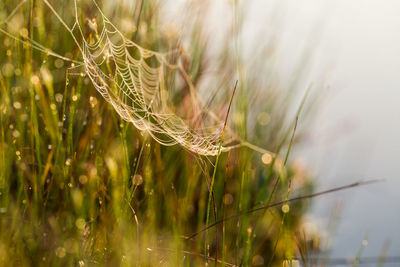
<path id="1" fill-rule="evenodd" d="M 295 104 L 305 68 L 282 82 L 273 41 L 245 57 L 237 1 L 214 48 L 200 1 L 182 36 L 159 1 L 74 2 L 0 3 L 0 265 L 317 252 L 300 231 L 307 201 L 290 201 L 313 191 L 289 157 L 312 108 Z"/>

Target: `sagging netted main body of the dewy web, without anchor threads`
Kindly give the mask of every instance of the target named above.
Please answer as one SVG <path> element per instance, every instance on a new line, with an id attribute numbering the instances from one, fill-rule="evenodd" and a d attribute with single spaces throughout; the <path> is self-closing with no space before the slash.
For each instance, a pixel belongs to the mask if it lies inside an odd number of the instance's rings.
<path id="1" fill-rule="evenodd" d="M 173 55 L 138 46 L 126 39 L 103 13 L 101 16 L 104 26 L 96 34 L 96 43 L 83 41 L 84 67 L 97 91 L 122 119 L 148 132 L 160 144 L 179 144 L 196 154 L 216 155 L 221 127 L 193 129 L 168 106 L 166 72 L 182 70 L 179 63 L 168 61 L 168 56 Z"/>

